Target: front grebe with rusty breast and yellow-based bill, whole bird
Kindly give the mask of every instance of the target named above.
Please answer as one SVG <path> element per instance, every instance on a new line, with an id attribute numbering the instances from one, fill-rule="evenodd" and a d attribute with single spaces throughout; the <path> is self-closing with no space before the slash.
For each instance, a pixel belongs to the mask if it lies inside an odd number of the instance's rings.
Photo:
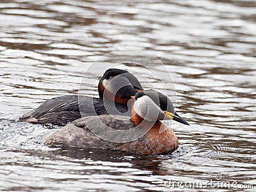
<path id="1" fill-rule="evenodd" d="M 160 120 L 170 118 L 182 124 L 189 124 L 175 113 L 168 97 L 154 90 L 137 92 L 131 111 L 129 120 L 116 119 L 110 115 L 79 118 L 48 136 L 44 143 L 50 147 L 98 148 L 142 155 L 172 154 L 177 149 L 177 136 Z M 101 124 L 97 124 L 97 118 Z M 104 140 L 99 137 L 99 134 L 108 134 L 109 130 L 102 129 L 104 125 L 114 131 L 124 131 L 131 135 L 113 134 L 113 140 L 118 136 L 122 137 L 119 143 Z M 126 132 L 127 130 L 133 131 Z M 99 134 L 95 135 L 92 131 Z M 132 136 L 134 132 L 138 133 L 137 138 Z M 131 140 L 125 142 L 125 138 Z"/>

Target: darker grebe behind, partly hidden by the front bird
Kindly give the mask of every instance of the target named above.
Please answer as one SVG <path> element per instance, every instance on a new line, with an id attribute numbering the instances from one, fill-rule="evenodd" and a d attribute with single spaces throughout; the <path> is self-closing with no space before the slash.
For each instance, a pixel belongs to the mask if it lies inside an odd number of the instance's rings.
<path id="1" fill-rule="evenodd" d="M 99 81 L 100 98 L 78 95 L 55 97 L 21 116 L 19 121 L 66 125 L 81 116 L 126 113 L 127 101 L 139 90 L 143 88 L 132 74 L 126 70 L 109 68 Z"/>

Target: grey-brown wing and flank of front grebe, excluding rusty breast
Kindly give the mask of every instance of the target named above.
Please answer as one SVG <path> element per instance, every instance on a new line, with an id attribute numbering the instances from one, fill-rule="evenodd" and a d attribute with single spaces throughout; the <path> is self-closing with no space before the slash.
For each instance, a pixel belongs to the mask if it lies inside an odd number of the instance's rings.
<path id="1" fill-rule="evenodd" d="M 136 134 L 140 134 L 142 129 L 135 127 L 130 120 L 118 120 L 116 117 L 124 118 L 124 116 L 115 116 L 114 118 L 109 115 L 79 118 L 47 137 L 45 145 L 113 149 L 131 137 L 135 137 L 135 140 Z M 108 138 L 102 138 L 104 136 Z M 120 142 L 116 142 L 116 140 Z"/>

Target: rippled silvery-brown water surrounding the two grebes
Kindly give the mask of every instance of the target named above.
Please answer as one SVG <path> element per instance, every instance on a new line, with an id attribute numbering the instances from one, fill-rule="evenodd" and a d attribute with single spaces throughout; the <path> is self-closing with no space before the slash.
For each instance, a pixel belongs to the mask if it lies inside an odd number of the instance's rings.
<path id="1" fill-rule="evenodd" d="M 209 182 L 216 174 L 239 188 L 255 185 L 255 6 L 250 0 L 2 0 L 0 190 L 171 191 L 170 179 Z M 173 124 L 180 148 L 172 156 L 49 149 L 40 144 L 47 127 L 14 121 L 44 100 L 78 93 L 92 61 L 120 49 L 148 52 L 172 73 L 177 111 L 191 124 Z M 121 67 L 159 86 L 140 66 Z M 83 86 L 87 95 L 94 72 Z M 244 189 L 222 191 L 230 190 Z"/>

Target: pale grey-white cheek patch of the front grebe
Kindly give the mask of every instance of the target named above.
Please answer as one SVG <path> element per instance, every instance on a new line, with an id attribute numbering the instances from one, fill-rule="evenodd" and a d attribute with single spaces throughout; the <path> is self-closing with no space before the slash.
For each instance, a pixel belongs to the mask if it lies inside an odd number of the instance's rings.
<path id="1" fill-rule="evenodd" d="M 147 95 L 138 98 L 134 102 L 134 111 L 148 122 L 155 122 L 165 116 L 159 106 Z"/>

